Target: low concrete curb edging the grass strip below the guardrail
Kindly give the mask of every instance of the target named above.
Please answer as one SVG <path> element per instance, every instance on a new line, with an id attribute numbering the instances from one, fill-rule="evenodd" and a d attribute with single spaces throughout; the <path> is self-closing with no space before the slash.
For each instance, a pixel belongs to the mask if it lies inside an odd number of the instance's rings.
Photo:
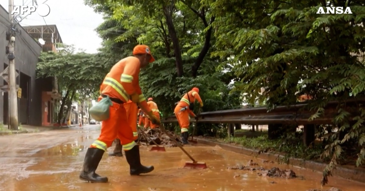
<path id="1" fill-rule="evenodd" d="M 272 152 L 259 153 L 258 150 L 253 150 L 249 148 L 245 148 L 243 146 L 235 146 L 231 144 L 221 143 L 215 140 L 208 140 L 203 138 L 196 138 L 198 143 L 206 144 L 212 147 L 220 146 L 224 150 L 237 152 L 239 154 L 252 156 L 254 158 L 260 158 L 264 160 L 271 160 L 278 162 L 278 159 L 283 159 L 283 155 L 274 154 Z M 323 169 L 327 166 L 327 164 L 319 163 L 311 160 L 297 159 L 297 158 L 289 158 L 289 165 L 306 168 L 313 171 L 323 172 Z M 365 169 L 350 169 L 346 167 L 336 167 L 336 169 L 332 170 L 332 174 L 334 176 L 338 176 L 344 179 L 355 180 L 358 182 L 365 182 Z"/>

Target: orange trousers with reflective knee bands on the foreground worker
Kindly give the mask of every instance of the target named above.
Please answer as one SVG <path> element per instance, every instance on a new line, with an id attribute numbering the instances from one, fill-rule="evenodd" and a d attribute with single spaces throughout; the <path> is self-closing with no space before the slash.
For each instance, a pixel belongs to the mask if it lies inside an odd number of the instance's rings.
<path id="1" fill-rule="evenodd" d="M 134 142 L 133 131 L 128 122 L 126 109 L 123 104 L 113 102 L 109 112 L 109 119 L 104 120 L 101 124 L 99 138 L 90 147 L 106 151 L 112 145 L 114 139 L 119 138 L 123 150 L 131 150 L 137 144 Z"/>

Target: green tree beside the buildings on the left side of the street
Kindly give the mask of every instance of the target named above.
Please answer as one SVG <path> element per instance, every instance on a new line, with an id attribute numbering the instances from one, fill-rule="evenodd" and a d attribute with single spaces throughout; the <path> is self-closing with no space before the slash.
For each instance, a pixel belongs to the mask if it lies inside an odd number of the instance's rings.
<path id="1" fill-rule="evenodd" d="M 104 63 L 96 55 L 76 52 L 72 45 L 60 44 L 59 52 L 42 52 L 38 77 L 56 77 L 63 92 L 57 123 L 64 122 L 73 100 L 94 95 L 104 78 Z M 100 62 L 99 62 L 100 61 Z M 64 112 L 65 106 L 68 110 Z M 63 120 L 62 120 L 63 119 Z"/>

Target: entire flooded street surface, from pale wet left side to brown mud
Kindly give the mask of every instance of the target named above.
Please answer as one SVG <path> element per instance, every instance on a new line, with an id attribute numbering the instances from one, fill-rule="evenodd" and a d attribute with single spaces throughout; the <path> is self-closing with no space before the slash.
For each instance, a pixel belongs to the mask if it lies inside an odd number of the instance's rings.
<path id="1" fill-rule="evenodd" d="M 147 175 L 130 176 L 124 157 L 111 157 L 107 153 L 97 173 L 108 176 L 109 183 L 86 183 L 78 178 L 86 149 L 97 138 L 100 126 L 85 126 L 67 130 L 54 130 L 34 134 L 0 136 L 0 190 L 4 191 L 306 191 L 341 190 L 362 191 L 365 184 L 340 178 L 329 178 L 329 184 L 320 186 L 321 173 L 292 168 L 286 165 L 263 163 L 261 159 L 224 151 L 219 147 L 185 147 L 208 169 L 181 168 L 188 157 L 179 148 L 166 148 L 167 152 L 151 152 L 141 147 L 141 161 L 154 165 Z M 112 151 L 112 148 L 108 149 Z M 229 170 L 227 167 L 246 165 L 249 160 L 264 168 L 292 169 L 302 178 L 266 178 L 258 172 Z"/>

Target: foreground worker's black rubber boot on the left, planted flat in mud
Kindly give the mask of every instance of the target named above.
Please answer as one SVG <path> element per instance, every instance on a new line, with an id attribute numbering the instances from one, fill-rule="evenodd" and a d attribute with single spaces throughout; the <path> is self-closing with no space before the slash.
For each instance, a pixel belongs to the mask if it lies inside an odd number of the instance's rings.
<path id="1" fill-rule="evenodd" d="M 108 182 L 107 177 L 101 177 L 95 173 L 104 151 L 98 148 L 88 148 L 85 155 L 84 167 L 80 173 L 80 179 L 88 182 Z"/>

